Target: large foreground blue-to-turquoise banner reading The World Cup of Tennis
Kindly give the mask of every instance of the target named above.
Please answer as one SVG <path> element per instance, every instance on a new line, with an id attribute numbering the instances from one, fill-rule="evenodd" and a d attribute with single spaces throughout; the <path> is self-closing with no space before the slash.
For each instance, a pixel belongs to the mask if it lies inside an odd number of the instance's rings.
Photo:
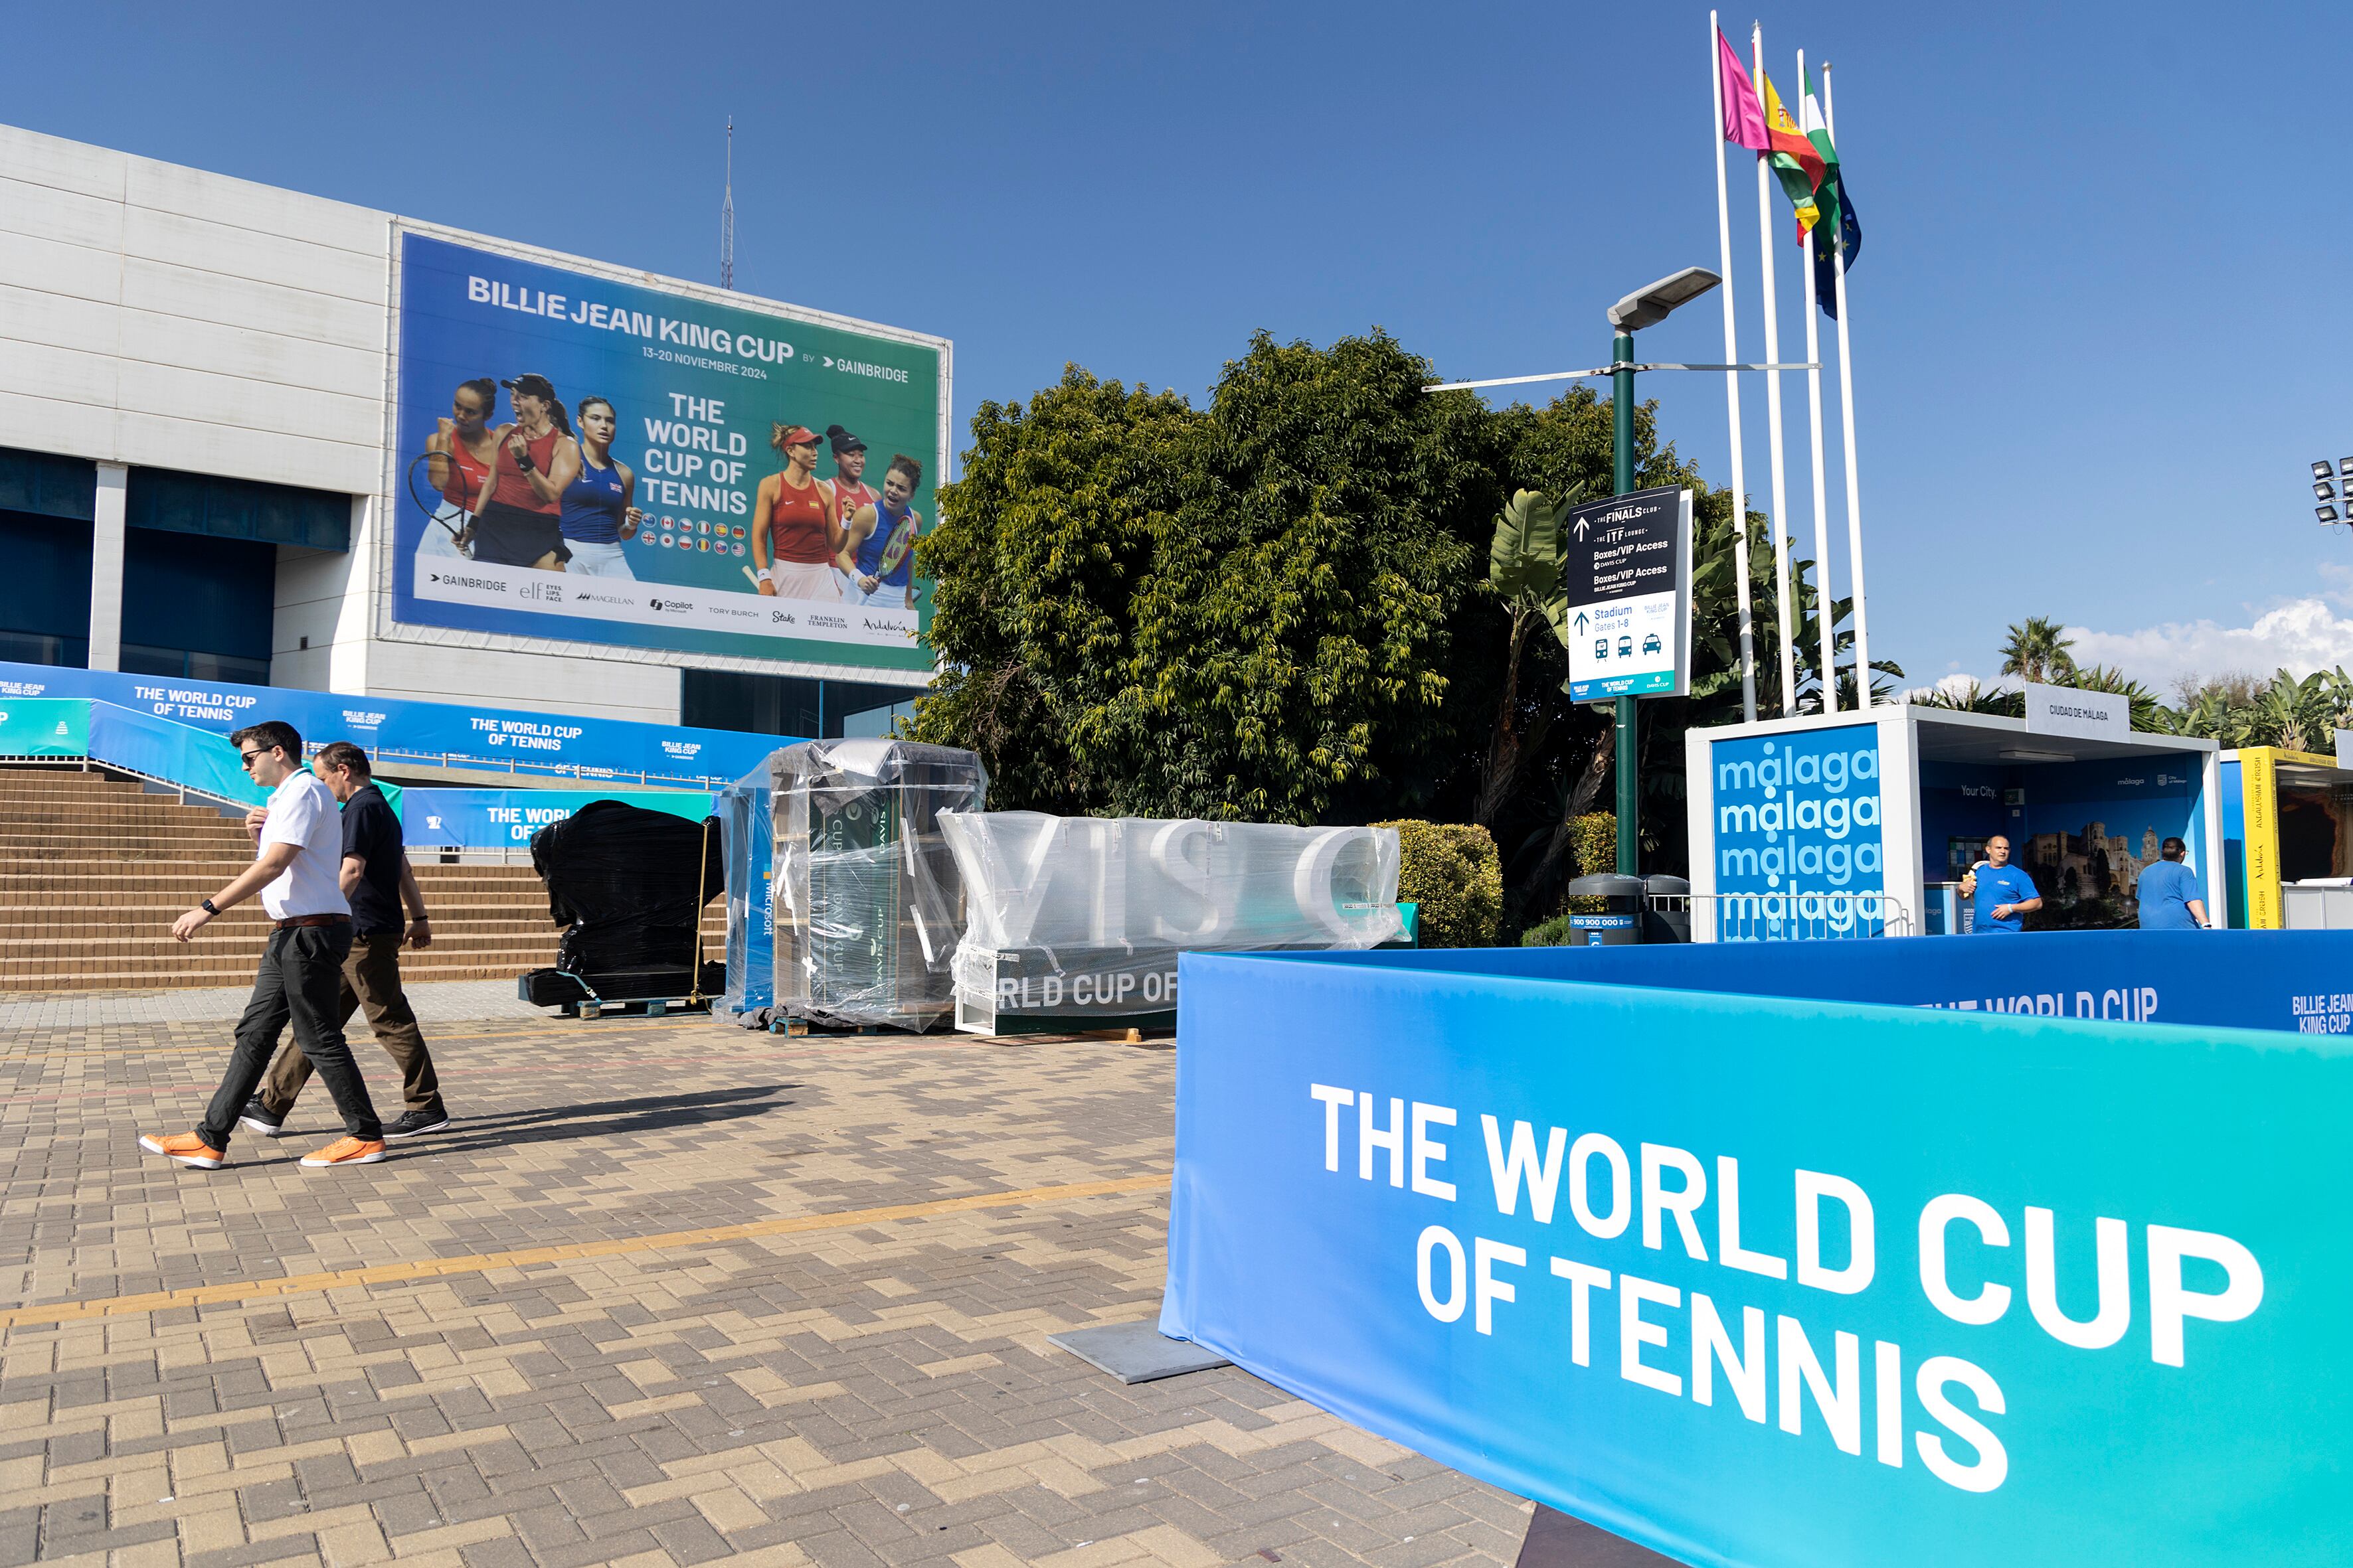
<path id="1" fill-rule="evenodd" d="M 1165 1333 L 1689 1563 L 2346 1561 L 2341 1041 L 1442 957 L 1184 957 Z"/>

